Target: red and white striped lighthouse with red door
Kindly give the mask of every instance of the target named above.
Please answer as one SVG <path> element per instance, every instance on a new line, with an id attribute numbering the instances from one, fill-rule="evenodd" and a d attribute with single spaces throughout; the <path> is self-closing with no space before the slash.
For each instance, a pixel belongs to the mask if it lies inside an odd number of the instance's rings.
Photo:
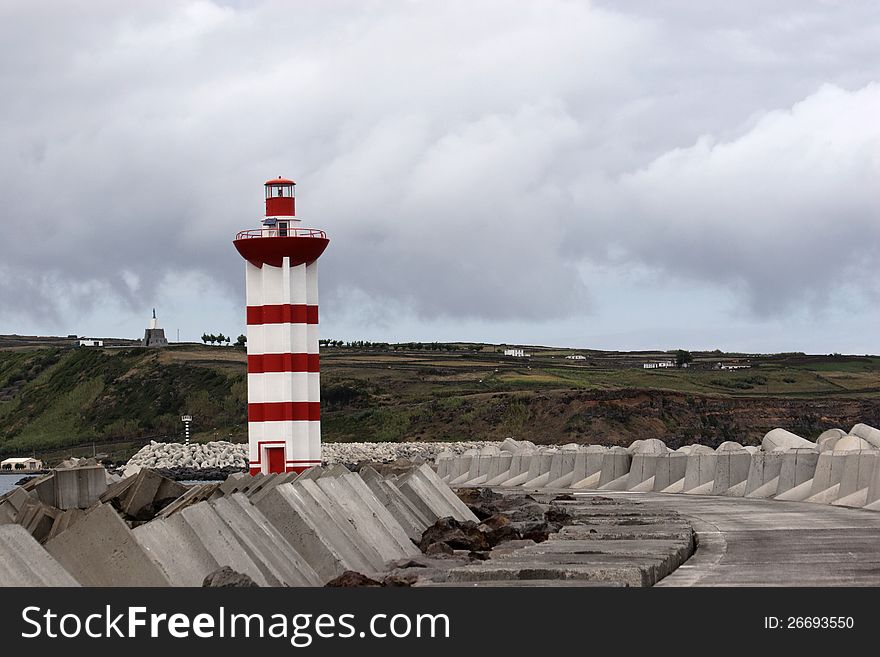
<path id="1" fill-rule="evenodd" d="M 250 473 L 321 464 L 318 258 L 329 240 L 296 217 L 296 183 L 265 183 L 262 227 L 233 244 L 245 259 Z"/>

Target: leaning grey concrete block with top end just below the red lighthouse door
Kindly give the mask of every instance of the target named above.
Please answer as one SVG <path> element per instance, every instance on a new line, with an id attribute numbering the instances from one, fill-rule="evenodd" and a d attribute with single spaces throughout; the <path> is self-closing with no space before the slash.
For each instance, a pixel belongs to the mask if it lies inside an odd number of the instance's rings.
<path id="1" fill-rule="evenodd" d="M 293 484 L 276 486 L 255 506 L 314 569 L 321 582 L 346 570 L 368 567 L 361 557 L 351 556 L 344 540 L 335 538 L 338 530 L 331 527 L 323 511 L 301 488 Z"/>

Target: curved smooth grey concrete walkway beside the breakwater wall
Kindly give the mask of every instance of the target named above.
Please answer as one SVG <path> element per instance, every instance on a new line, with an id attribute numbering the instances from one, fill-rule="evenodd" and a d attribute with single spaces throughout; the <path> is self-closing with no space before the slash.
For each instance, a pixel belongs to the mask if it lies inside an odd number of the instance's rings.
<path id="1" fill-rule="evenodd" d="M 696 553 L 657 586 L 880 586 L 880 513 L 805 502 L 576 493 L 678 511 Z"/>

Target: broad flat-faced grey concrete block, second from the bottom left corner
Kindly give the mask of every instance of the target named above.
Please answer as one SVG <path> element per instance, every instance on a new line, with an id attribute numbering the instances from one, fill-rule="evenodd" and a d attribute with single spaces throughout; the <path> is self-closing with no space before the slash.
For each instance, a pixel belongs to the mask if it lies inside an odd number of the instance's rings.
<path id="1" fill-rule="evenodd" d="M 83 586 L 169 586 L 171 582 L 107 504 L 91 509 L 46 551 Z"/>

